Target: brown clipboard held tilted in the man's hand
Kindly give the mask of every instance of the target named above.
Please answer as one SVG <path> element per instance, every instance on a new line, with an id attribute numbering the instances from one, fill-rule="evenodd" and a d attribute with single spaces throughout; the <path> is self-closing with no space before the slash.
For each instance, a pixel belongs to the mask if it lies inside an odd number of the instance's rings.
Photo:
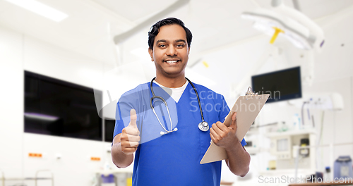
<path id="1" fill-rule="evenodd" d="M 232 115 L 234 112 L 237 112 L 237 137 L 240 142 L 250 129 L 256 116 L 258 116 L 258 113 L 268 100 L 268 97 L 270 97 L 270 94 L 258 95 L 258 93 L 253 93 L 251 87 L 249 87 L 245 96 L 241 96 L 235 101 L 232 110 L 229 111 L 225 118 L 224 124 L 227 127 L 231 125 Z M 218 147 L 211 141 L 210 147 L 208 147 L 200 164 L 221 161 L 223 159 L 228 159 L 225 149 Z"/>

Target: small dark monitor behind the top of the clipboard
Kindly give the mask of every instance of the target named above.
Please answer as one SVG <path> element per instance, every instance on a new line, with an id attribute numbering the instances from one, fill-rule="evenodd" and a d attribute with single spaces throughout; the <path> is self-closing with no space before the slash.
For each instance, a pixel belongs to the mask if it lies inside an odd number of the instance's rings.
<path id="1" fill-rule="evenodd" d="M 300 67 L 253 75 L 252 88 L 258 94 L 270 94 L 266 103 L 301 98 Z"/>

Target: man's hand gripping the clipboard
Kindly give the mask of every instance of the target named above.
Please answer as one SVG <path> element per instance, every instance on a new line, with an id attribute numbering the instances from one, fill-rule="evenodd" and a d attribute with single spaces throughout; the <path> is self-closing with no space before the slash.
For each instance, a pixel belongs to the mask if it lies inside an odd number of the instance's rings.
<path id="1" fill-rule="evenodd" d="M 237 138 L 237 113 L 232 116 L 232 124 L 227 127 L 225 124 L 217 121 L 210 128 L 210 136 L 213 142 L 218 147 L 230 149 L 234 147 L 234 142 L 238 141 Z"/>

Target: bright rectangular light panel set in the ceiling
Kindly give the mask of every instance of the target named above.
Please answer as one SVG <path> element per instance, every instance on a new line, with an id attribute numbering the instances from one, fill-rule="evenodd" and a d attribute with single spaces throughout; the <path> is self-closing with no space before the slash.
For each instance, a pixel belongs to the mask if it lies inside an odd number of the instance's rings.
<path id="1" fill-rule="evenodd" d="M 10 2 L 11 4 L 16 4 L 22 8 L 27 9 L 28 11 L 32 11 L 34 13 L 39 14 L 40 16 L 44 16 L 45 18 L 49 18 L 50 20 L 54 20 L 56 22 L 60 22 L 68 17 L 66 13 L 56 10 L 46 4 L 42 4 L 40 1 L 35 0 L 5 0 Z"/>

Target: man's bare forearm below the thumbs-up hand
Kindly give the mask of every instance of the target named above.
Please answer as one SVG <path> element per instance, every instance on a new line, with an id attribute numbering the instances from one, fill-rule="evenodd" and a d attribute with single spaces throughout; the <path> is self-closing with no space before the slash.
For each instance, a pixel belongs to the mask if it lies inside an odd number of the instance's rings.
<path id="1" fill-rule="evenodd" d="M 125 168 L 133 162 L 133 154 L 124 154 L 121 151 L 121 144 L 116 143 L 112 146 L 112 160 L 117 167 Z"/>

